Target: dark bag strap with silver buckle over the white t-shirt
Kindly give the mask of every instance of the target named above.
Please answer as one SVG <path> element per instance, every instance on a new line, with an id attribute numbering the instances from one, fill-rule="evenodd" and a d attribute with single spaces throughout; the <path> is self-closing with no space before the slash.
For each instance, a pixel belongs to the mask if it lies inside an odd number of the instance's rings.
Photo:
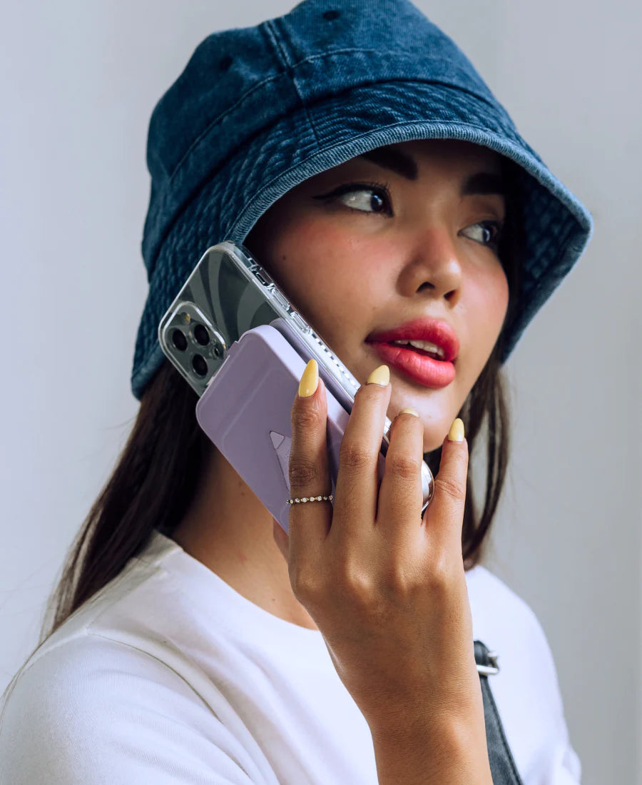
<path id="1" fill-rule="evenodd" d="M 523 785 L 488 684 L 488 677 L 499 673 L 497 660 L 497 652 L 489 651 L 482 641 L 475 641 L 475 661 L 480 674 L 483 718 L 486 721 L 488 760 L 491 763 L 493 785 Z"/>

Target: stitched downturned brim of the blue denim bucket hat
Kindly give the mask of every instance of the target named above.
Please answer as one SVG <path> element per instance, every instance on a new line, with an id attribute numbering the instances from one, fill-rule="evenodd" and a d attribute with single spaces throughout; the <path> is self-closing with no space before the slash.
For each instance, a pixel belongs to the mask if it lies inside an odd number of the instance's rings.
<path id="1" fill-rule="evenodd" d="M 523 174 L 517 183 L 523 270 L 516 316 L 505 326 L 505 363 L 534 314 L 581 256 L 593 233 L 592 218 L 497 104 L 465 89 L 398 80 L 359 86 L 294 111 L 237 148 L 217 171 L 204 167 L 206 180 L 185 197 L 157 248 L 148 249 L 154 258 L 148 264 L 150 291 L 134 354 L 133 394 L 140 400 L 165 360 L 159 322 L 208 247 L 224 239 L 243 243 L 261 215 L 309 177 L 374 148 L 420 139 L 480 144 L 505 155 Z M 201 144 L 206 155 L 206 137 Z M 194 179 L 193 172 L 185 176 Z M 180 191 L 180 183 L 174 186 Z"/>

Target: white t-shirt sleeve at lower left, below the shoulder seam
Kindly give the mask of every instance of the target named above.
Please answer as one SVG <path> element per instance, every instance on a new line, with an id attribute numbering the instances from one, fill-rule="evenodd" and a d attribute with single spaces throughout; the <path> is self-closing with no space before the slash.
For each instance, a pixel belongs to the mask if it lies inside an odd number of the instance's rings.
<path id="1" fill-rule="evenodd" d="M 250 785 L 246 758 L 181 675 L 86 630 L 31 659 L 0 711 L 0 781 L 13 785 L 179 785 L 212 772 Z"/>

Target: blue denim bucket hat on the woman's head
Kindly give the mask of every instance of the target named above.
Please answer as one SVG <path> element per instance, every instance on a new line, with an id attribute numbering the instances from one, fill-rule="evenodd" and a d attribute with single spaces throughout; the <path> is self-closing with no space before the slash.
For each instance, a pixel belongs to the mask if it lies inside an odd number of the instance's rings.
<path id="1" fill-rule="evenodd" d="M 159 322 L 208 247 L 243 243 L 268 207 L 309 177 L 419 139 L 469 141 L 516 164 L 523 257 L 504 363 L 589 242 L 588 210 L 409 0 L 305 0 L 256 27 L 208 36 L 152 113 L 142 242 L 149 294 L 134 396 L 165 359 Z"/>

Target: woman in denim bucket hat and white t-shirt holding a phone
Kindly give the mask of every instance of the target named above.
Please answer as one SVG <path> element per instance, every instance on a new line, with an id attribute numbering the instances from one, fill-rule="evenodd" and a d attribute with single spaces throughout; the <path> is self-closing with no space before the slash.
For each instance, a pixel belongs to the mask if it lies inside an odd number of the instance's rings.
<path id="1" fill-rule="evenodd" d="M 404 0 L 305 0 L 206 38 L 155 108 L 148 165 L 140 412 L 7 691 L 2 781 L 577 783 L 544 633 L 479 562 L 508 457 L 501 367 L 588 242 L 585 208 Z M 329 488 L 308 363 L 289 538 L 159 349 L 221 239 L 362 383 L 334 500 L 295 502 Z"/>

